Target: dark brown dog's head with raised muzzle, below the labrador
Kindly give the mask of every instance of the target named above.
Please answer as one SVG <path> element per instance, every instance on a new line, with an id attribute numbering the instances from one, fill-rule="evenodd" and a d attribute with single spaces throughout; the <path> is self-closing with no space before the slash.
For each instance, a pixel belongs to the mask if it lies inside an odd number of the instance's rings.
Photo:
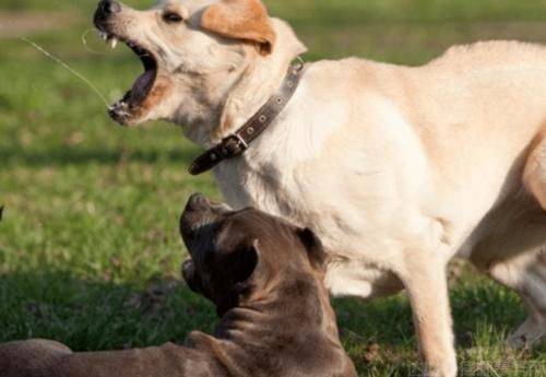
<path id="1" fill-rule="evenodd" d="M 221 316 L 283 276 L 324 271 L 325 254 L 311 231 L 254 209 L 232 211 L 194 195 L 180 232 L 191 255 L 182 275 Z"/>

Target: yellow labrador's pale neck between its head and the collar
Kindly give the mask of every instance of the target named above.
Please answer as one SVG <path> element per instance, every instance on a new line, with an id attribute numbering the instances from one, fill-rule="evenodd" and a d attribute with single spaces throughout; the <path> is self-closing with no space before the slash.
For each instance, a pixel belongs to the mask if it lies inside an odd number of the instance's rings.
<path id="1" fill-rule="evenodd" d="M 190 140 L 210 148 L 234 133 L 281 87 L 292 61 L 306 51 L 284 22 L 273 19 L 277 45 L 269 56 L 245 46 L 245 63 L 230 72 L 193 73 L 181 79 L 187 92 L 175 123 Z"/>

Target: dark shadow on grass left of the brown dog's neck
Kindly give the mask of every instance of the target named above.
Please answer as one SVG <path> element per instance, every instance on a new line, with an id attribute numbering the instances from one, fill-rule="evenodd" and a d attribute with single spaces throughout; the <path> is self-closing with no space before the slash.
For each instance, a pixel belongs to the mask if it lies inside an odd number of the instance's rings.
<path id="1" fill-rule="evenodd" d="M 47 338 L 75 351 L 115 350 L 183 341 L 215 322 L 213 306 L 181 281 L 141 288 L 49 270 L 0 275 L 0 342 Z"/>

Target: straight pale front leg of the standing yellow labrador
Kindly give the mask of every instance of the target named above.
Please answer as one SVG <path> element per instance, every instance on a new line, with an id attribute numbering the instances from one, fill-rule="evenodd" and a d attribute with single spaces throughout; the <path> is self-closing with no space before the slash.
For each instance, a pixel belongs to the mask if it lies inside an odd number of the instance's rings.
<path id="1" fill-rule="evenodd" d="M 456 354 L 451 327 L 447 261 L 432 252 L 407 256 L 400 276 L 410 297 L 415 330 L 428 377 L 455 377 Z"/>

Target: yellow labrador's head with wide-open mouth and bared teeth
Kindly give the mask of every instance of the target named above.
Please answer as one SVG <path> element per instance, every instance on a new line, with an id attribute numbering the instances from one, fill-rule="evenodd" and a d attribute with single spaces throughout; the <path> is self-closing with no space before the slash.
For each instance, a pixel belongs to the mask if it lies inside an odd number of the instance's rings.
<path id="1" fill-rule="evenodd" d="M 110 109 L 121 125 L 165 119 L 192 128 L 217 122 L 218 107 L 250 67 L 266 59 L 289 62 L 305 51 L 261 0 L 163 0 L 145 11 L 102 0 L 94 23 L 112 46 L 126 43 L 144 66 Z M 199 139 L 198 130 L 186 131 Z"/>

